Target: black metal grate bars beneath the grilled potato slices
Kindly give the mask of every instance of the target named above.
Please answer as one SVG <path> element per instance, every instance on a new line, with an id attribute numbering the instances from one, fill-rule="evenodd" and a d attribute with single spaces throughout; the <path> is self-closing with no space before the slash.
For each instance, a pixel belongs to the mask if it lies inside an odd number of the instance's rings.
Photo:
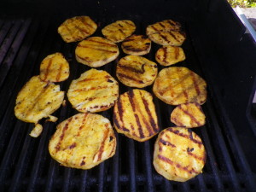
<path id="1" fill-rule="evenodd" d="M 147 22 L 132 18 L 144 33 Z M 15 118 L 15 97 L 23 84 L 39 73 L 40 61 L 46 55 L 60 51 L 71 66 L 71 76 L 61 83 L 67 90 L 72 79 L 79 77 L 88 67 L 74 58 L 76 44 L 65 44 L 56 32 L 61 18 L 9 18 L 0 20 L 0 190 L 1 191 L 253 191 L 256 189 L 255 173 L 247 165 L 247 159 L 238 142 L 233 125 L 221 105 L 218 88 L 207 76 L 195 53 L 189 25 L 184 22 L 188 39 L 183 45 L 187 60 L 180 66 L 189 67 L 207 79 L 208 98 L 203 105 L 207 125 L 195 132 L 207 148 L 207 164 L 203 174 L 186 183 L 167 181 L 152 166 L 155 137 L 145 143 L 117 136 L 118 146 L 113 158 L 88 170 L 76 170 L 59 166 L 48 153 L 49 138 L 55 131 L 54 123 L 44 122 L 44 131 L 38 138 L 28 134 L 32 125 Z M 99 26 L 113 20 L 96 18 Z M 150 21 L 148 21 L 150 22 Z M 152 21 L 153 22 L 153 21 Z M 96 35 L 101 35 L 100 31 Z M 154 44 L 148 59 L 154 60 L 159 47 Z M 122 55 L 119 56 L 119 58 Z M 117 61 L 101 67 L 115 77 Z M 151 91 L 152 87 L 146 88 Z M 129 88 L 121 86 L 123 93 Z M 166 120 L 173 109 L 154 98 L 160 127 L 172 124 Z M 67 103 L 55 112 L 58 122 L 75 112 Z M 112 119 L 112 109 L 102 113 Z"/>

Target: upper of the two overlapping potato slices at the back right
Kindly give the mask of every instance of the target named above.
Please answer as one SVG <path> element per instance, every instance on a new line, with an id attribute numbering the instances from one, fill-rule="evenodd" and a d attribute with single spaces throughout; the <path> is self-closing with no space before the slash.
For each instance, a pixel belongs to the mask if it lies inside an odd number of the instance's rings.
<path id="1" fill-rule="evenodd" d="M 147 35 L 155 32 L 169 32 L 169 31 L 180 31 L 181 25 L 179 22 L 174 20 L 162 20 L 152 25 L 147 26 Z"/>

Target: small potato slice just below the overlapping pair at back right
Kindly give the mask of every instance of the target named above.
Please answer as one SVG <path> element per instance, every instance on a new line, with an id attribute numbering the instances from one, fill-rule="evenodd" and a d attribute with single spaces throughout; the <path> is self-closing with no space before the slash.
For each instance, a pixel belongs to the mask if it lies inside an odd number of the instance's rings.
<path id="1" fill-rule="evenodd" d="M 171 66 L 179 61 L 184 61 L 186 56 L 181 47 L 163 46 L 157 50 L 155 60 L 162 66 Z"/>

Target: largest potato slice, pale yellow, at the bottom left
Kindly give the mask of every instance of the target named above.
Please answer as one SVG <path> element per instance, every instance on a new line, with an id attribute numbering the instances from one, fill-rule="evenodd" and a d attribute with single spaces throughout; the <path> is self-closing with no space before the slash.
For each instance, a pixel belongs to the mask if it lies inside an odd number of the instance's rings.
<path id="1" fill-rule="evenodd" d="M 53 159 L 78 169 L 90 169 L 115 154 L 116 138 L 110 121 L 94 113 L 78 113 L 57 125 L 49 141 Z"/>

